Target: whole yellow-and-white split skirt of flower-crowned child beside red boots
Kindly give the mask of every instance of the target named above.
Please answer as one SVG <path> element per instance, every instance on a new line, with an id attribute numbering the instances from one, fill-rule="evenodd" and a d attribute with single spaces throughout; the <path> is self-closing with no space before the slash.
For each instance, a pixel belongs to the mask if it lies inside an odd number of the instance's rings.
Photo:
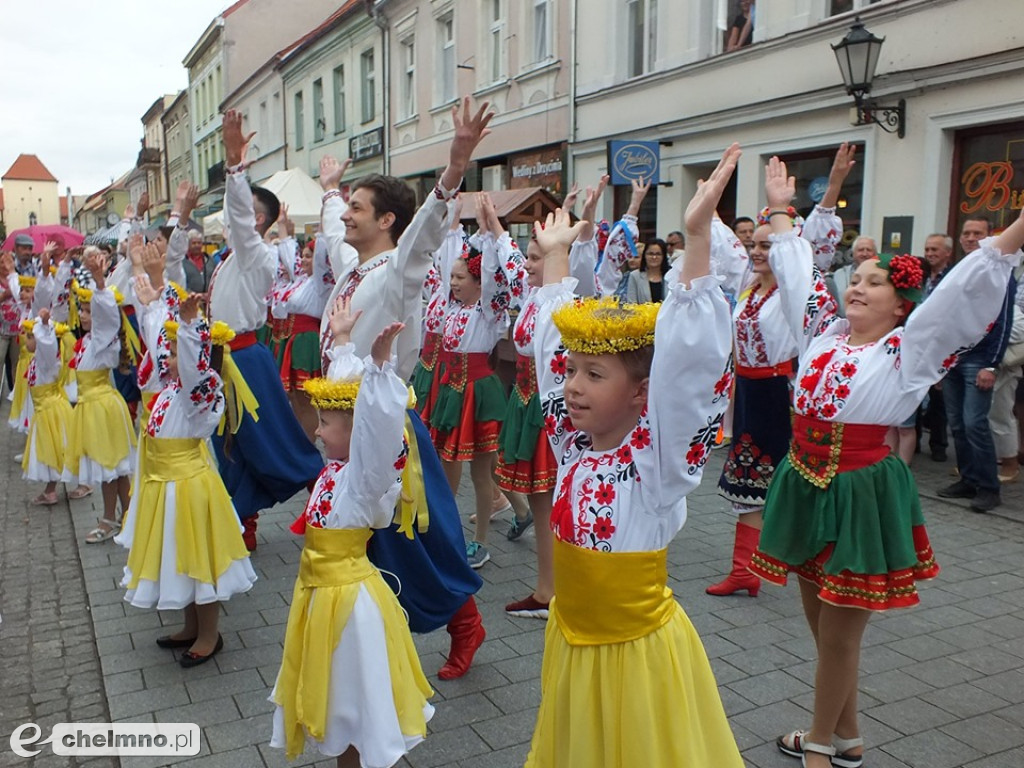
<path id="1" fill-rule="evenodd" d="M 275 718 L 271 745 L 284 741 L 289 760 L 302 753 L 307 736 L 318 742 L 333 742 L 341 751 L 345 744 L 352 743 L 364 755 L 369 755 L 371 750 L 367 740 L 376 738 L 395 743 L 395 736 L 398 736 L 398 741 L 415 743 L 426 736 L 426 721 L 432 712 L 427 698 L 433 691 L 420 667 L 420 657 L 398 599 L 367 558 L 371 532 L 369 528 L 306 527 L 305 548 L 299 561 L 299 575 L 285 632 L 281 673 L 271 696 L 283 715 L 280 720 Z M 355 610 L 356 598 L 364 588 L 380 611 L 385 647 L 352 645 L 353 655 L 339 658 L 335 651 L 346 625 L 367 620 Z M 361 658 L 358 657 L 360 653 Z M 382 658 L 385 655 L 386 659 Z M 387 671 L 382 669 L 382 674 L 375 679 L 389 676 L 390 690 L 382 690 L 381 685 L 365 690 L 332 691 L 332 664 L 370 668 L 386 664 Z M 338 697 L 357 710 L 356 720 L 361 717 L 366 722 L 344 718 L 339 730 L 350 729 L 350 732 L 331 733 L 331 723 L 338 722 Z M 335 712 L 332 712 L 332 701 Z M 382 708 L 393 715 L 373 717 L 373 713 Z M 398 733 L 388 732 L 388 721 L 396 724 Z M 403 751 L 400 749 L 399 754 L 390 757 L 397 761 Z"/>

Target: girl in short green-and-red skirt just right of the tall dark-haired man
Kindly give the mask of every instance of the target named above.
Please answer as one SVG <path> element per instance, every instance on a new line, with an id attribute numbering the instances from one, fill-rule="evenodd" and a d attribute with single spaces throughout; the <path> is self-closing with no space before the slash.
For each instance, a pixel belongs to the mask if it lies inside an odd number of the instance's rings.
<path id="1" fill-rule="evenodd" d="M 508 330 L 510 298 L 521 295 L 523 287 L 510 283 L 503 270 L 509 260 L 521 264 L 522 254 L 502 227 L 486 193 L 479 193 L 476 202 L 480 250 L 470 250 L 453 262 L 441 365 L 434 372 L 441 384 L 430 413 L 430 431 L 453 493 L 459 486 L 460 462 L 469 462 L 476 531 L 466 545 L 466 558 L 479 568 L 490 559 L 485 544 L 495 498 L 498 434 L 507 408 L 505 388 L 489 356 Z"/>

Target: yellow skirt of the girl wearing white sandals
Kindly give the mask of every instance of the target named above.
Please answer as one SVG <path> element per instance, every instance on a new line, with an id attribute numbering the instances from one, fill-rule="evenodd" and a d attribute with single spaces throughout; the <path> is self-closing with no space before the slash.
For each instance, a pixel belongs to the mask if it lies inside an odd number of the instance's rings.
<path id="1" fill-rule="evenodd" d="M 111 384 L 110 371 L 79 371 L 77 378 L 78 404 L 68 438 L 68 466 L 82 474 L 82 461 L 91 460 L 109 472 L 117 471 L 131 461 L 135 450 L 128 406 Z"/>

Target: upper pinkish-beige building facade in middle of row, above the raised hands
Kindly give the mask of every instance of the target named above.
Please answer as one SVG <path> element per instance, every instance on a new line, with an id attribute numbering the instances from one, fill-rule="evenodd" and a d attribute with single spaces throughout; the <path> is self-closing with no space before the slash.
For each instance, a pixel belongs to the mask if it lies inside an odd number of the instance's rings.
<path id="1" fill-rule="evenodd" d="M 557 156 L 569 127 L 570 3 L 380 5 L 390 31 L 391 173 L 430 176 L 444 167 L 452 106 L 464 94 L 497 113 L 477 153 L 481 168 L 495 169 L 481 174 L 486 188 L 509 186 L 517 153 L 555 147 Z"/>

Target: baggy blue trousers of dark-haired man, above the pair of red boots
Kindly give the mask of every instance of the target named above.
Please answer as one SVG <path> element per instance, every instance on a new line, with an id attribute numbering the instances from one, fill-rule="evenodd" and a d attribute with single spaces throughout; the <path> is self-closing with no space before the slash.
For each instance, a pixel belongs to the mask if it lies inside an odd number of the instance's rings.
<path id="1" fill-rule="evenodd" d="M 466 561 L 459 508 L 430 433 L 415 411 L 409 411 L 409 418 L 423 464 L 430 524 L 425 534 L 414 526 L 413 539 L 400 532 L 395 523 L 375 530 L 368 554 L 374 565 L 398 578 L 398 602 L 409 613 L 409 627 L 413 632 L 425 633 L 452 621 L 483 582 Z M 384 580 L 393 589 L 397 587 L 387 573 Z"/>

